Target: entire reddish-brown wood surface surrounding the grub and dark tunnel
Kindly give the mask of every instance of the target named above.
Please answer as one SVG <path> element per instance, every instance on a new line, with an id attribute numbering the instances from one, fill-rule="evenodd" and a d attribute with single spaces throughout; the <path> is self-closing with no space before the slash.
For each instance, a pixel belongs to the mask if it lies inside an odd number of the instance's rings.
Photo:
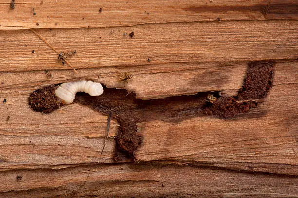
<path id="1" fill-rule="evenodd" d="M 0 198 L 298 197 L 296 0 L 10 2 L 0 0 Z M 67 60 L 78 73 L 30 28 L 59 52 L 76 50 Z M 139 99 L 233 96 L 247 64 L 264 60 L 274 79 L 258 108 L 138 123 L 136 162 L 113 160 L 116 120 L 101 155 L 106 115 L 28 104 L 42 86 L 80 79 Z"/>

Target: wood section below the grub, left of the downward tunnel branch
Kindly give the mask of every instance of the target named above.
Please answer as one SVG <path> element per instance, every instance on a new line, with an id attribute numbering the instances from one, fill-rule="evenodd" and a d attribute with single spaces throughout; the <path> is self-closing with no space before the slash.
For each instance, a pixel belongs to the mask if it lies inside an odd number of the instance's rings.
<path id="1" fill-rule="evenodd" d="M 30 109 L 27 96 L 0 105 L 0 169 L 113 162 L 115 121 L 101 155 L 106 116 L 78 104 L 42 115 Z"/>

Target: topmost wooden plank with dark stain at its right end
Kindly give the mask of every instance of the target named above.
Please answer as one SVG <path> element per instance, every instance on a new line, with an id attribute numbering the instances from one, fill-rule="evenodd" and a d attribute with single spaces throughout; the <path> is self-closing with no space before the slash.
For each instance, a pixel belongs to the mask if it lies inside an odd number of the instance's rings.
<path id="1" fill-rule="evenodd" d="M 10 2 L 0 0 L 2 30 L 115 27 L 218 19 L 298 19 L 296 0 L 16 0 L 13 10 L 9 7 Z"/>

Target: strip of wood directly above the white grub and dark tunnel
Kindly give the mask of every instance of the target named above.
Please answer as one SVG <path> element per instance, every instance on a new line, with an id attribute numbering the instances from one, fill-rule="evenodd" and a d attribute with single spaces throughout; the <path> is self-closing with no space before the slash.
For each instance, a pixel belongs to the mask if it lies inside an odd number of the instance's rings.
<path id="1" fill-rule="evenodd" d="M 8 100 L 14 92 L 37 88 L 37 85 L 71 82 L 81 79 L 101 82 L 107 87 L 124 88 L 136 98 L 156 99 L 197 92 L 238 90 L 246 74 L 246 63 L 173 63 L 164 65 L 104 67 L 80 69 L 77 75 L 69 70 L 0 72 L 0 96 Z M 119 72 L 129 72 L 128 83 L 119 81 Z M 30 90 L 30 91 L 29 91 Z M 11 96 L 11 95 L 14 96 Z"/>

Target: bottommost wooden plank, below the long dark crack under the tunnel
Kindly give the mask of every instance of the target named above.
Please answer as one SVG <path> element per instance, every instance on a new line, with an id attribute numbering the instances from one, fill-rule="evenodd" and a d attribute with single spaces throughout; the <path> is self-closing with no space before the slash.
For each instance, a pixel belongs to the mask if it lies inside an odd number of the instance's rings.
<path id="1" fill-rule="evenodd" d="M 295 198 L 297 182 L 297 177 L 187 165 L 87 165 L 0 171 L 0 198 Z"/>

